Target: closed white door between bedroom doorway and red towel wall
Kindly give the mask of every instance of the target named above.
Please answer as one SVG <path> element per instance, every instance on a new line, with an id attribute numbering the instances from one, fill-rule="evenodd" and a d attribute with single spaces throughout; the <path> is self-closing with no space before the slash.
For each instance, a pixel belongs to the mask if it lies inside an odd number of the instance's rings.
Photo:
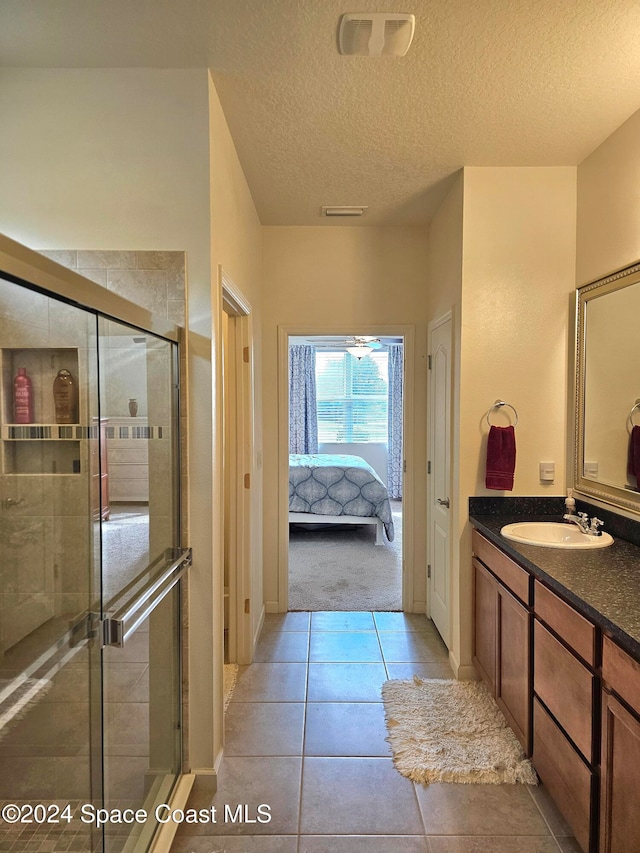
<path id="1" fill-rule="evenodd" d="M 428 615 L 450 647 L 451 314 L 429 326 Z"/>

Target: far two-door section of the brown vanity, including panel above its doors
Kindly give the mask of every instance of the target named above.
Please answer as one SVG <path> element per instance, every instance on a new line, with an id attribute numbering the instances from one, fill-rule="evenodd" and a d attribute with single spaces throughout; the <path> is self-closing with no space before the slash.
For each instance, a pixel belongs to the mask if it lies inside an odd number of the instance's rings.
<path id="1" fill-rule="evenodd" d="M 474 532 L 474 663 L 527 755 L 531 754 L 529 579 Z M 495 569 L 495 573 L 494 570 Z M 490 571 L 491 570 L 491 571 Z M 519 601 L 505 581 L 524 597 Z"/>

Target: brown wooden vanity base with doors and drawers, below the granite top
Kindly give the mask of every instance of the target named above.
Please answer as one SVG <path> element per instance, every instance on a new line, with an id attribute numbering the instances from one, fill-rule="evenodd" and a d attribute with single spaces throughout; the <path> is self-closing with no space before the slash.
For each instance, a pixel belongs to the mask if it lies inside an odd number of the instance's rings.
<path id="1" fill-rule="evenodd" d="M 473 554 L 478 673 L 581 849 L 639 853 L 640 663 L 476 530 Z"/>

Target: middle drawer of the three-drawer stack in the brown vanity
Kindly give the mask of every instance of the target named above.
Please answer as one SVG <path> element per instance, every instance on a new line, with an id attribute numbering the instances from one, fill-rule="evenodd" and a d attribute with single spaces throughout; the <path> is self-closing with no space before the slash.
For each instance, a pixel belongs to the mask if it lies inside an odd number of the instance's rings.
<path id="1" fill-rule="evenodd" d="M 593 675 L 537 619 L 533 650 L 534 692 L 592 761 Z"/>

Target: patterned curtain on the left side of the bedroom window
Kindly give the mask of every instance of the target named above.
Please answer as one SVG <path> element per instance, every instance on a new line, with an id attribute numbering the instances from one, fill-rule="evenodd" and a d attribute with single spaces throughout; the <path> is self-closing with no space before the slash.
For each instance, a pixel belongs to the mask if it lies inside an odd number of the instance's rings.
<path id="1" fill-rule="evenodd" d="M 289 453 L 318 452 L 315 347 L 289 347 Z"/>

